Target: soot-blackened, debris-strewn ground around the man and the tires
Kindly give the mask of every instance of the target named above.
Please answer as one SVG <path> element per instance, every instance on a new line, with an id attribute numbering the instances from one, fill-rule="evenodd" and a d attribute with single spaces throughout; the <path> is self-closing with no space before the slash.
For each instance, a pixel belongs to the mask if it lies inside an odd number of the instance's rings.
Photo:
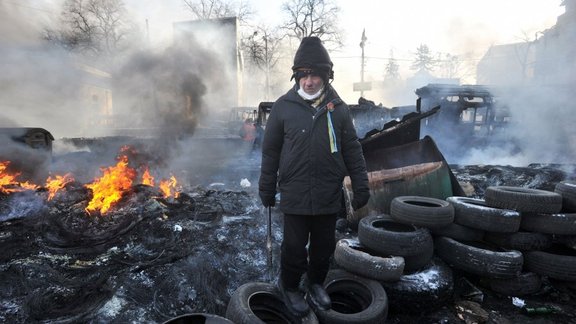
<path id="1" fill-rule="evenodd" d="M 77 155 L 62 156 L 60 163 L 67 158 Z M 236 288 L 268 281 L 278 271 L 281 217 L 274 210 L 270 271 L 258 166 L 249 156 L 212 163 L 211 172 L 187 170 L 189 183 L 177 199 L 156 198 L 153 188 L 134 186 L 105 217 L 84 212 L 88 192 L 80 183 L 69 184 L 50 202 L 42 191 L 0 196 L 0 322 L 153 323 L 185 313 L 223 316 Z M 574 166 L 549 164 L 451 168 L 467 194 L 479 198 L 491 185 L 553 190 L 575 174 Z M 338 232 L 339 238 L 355 235 L 350 228 Z M 476 278 L 468 279 L 476 284 Z M 455 295 L 433 312 L 390 313 L 388 321 L 576 321 L 574 291 L 554 282 L 525 300 L 560 305 L 562 314 L 528 316 L 510 297 L 479 289 L 483 297 L 475 301 L 488 317 L 462 307 L 458 303 L 465 298 Z"/>

